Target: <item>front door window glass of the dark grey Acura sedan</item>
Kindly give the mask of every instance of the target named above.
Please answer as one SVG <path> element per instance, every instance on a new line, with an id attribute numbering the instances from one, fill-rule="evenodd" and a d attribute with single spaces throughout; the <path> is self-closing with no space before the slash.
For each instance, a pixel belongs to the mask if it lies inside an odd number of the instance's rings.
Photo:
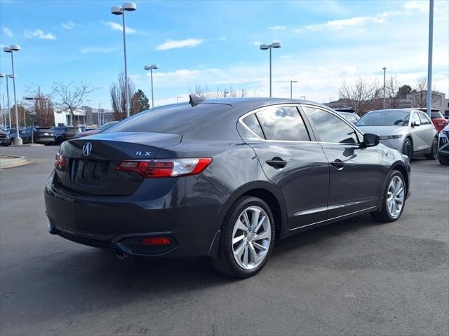
<path id="1" fill-rule="evenodd" d="M 330 112 L 313 107 L 303 106 L 303 109 L 306 111 L 307 117 L 314 123 L 321 141 L 358 144 L 356 131 L 340 118 Z"/>

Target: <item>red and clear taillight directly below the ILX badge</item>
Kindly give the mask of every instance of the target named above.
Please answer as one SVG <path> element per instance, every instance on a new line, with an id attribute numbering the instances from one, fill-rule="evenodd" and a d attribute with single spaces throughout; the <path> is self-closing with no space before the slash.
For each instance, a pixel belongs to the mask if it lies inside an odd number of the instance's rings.
<path id="1" fill-rule="evenodd" d="M 136 172 L 145 178 L 176 177 L 199 174 L 210 162 L 212 158 L 127 160 L 120 162 L 115 170 Z"/>

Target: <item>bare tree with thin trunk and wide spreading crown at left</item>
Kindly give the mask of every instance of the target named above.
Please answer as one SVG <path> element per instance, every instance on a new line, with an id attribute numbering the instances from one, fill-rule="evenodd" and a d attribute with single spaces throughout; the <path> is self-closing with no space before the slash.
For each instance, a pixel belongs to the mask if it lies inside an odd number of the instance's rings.
<path id="1" fill-rule="evenodd" d="M 95 87 L 91 87 L 91 85 L 83 82 L 78 84 L 74 82 L 68 84 L 59 82 L 53 84 L 53 95 L 58 103 L 58 107 L 62 109 L 62 111 L 69 112 L 72 117 L 74 135 L 76 127 L 74 113 L 77 109 L 80 109 L 81 106 L 87 104 L 89 94 L 95 90 Z"/>

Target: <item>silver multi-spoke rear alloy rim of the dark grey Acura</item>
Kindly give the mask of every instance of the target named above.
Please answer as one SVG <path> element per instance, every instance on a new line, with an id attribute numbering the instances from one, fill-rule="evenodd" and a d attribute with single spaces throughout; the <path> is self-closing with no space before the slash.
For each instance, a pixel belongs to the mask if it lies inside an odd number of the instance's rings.
<path id="1" fill-rule="evenodd" d="M 267 257 L 272 242 L 272 223 L 261 207 L 242 211 L 232 231 L 234 260 L 243 269 L 255 269 Z"/>

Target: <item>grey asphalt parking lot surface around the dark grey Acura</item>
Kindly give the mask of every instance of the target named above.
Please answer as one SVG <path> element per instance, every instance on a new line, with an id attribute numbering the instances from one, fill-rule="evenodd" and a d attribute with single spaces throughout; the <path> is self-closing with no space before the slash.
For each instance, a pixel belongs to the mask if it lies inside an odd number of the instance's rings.
<path id="1" fill-rule="evenodd" d="M 412 162 L 400 220 L 359 216 L 279 241 L 236 280 L 204 259 L 121 261 L 47 233 L 57 146 L 1 148 L 1 335 L 448 335 L 449 168 Z"/>

